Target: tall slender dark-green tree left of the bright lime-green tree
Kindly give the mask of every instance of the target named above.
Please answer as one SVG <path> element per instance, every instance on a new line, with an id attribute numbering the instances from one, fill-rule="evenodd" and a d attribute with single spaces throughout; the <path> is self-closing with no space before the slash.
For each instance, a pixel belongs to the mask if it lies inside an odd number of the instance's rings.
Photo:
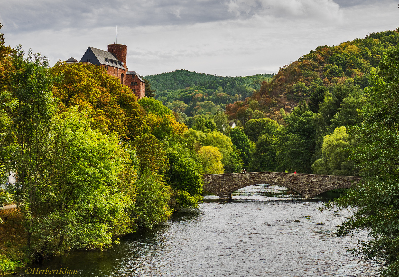
<path id="1" fill-rule="evenodd" d="M 14 153 L 11 163 L 18 174 L 24 195 L 26 218 L 37 213 L 36 191 L 44 174 L 45 156 L 50 151 L 51 126 L 56 103 L 51 94 L 52 80 L 47 59 L 29 51 L 24 57 L 22 46 L 18 45 L 13 55 L 13 75 L 10 90 L 12 98 L 18 99 L 18 106 L 10 113 L 13 125 L 10 136 L 14 136 Z M 15 130 L 15 132 L 13 131 Z M 34 223 L 27 223 L 27 246 L 30 247 Z"/>

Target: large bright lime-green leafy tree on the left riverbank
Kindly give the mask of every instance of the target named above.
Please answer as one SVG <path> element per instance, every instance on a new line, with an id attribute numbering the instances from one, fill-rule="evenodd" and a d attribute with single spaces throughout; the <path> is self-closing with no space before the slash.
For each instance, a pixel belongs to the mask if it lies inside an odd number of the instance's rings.
<path id="1" fill-rule="evenodd" d="M 24 175 L 27 250 L 35 258 L 108 248 L 113 236 L 134 229 L 127 212 L 133 199 L 119 189 L 119 143 L 93 130 L 90 121 L 90 111 L 77 108 L 53 118 L 36 175 Z"/>

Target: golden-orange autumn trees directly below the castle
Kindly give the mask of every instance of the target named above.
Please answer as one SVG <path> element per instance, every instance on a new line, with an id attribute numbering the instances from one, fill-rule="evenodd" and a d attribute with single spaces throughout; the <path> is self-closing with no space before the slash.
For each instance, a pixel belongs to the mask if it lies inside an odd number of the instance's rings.
<path id="1" fill-rule="evenodd" d="M 60 112 L 78 106 L 91 108 L 93 126 L 105 134 L 134 139 L 146 127 L 143 113 L 130 88 L 99 66 L 82 63 L 67 65 L 58 61 L 50 70 L 53 95 L 59 98 Z"/>

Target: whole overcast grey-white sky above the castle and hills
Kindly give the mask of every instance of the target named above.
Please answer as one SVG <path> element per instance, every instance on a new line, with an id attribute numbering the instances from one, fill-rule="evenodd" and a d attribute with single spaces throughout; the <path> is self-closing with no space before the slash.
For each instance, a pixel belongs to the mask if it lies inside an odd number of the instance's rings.
<path id="1" fill-rule="evenodd" d="M 276 73 L 320 45 L 399 26 L 392 0 L 0 0 L 6 44 L 51 64 L 87 47 L 127 45 L 141 75 L 188 69 L 222 76 Z"/>

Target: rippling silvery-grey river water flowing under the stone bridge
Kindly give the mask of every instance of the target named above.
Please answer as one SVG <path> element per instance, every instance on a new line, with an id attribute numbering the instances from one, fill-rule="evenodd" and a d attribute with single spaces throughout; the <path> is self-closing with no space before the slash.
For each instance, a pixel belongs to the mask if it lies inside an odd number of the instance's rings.
<path id="1" fill-rule="evenodd" d="M 69 266 L 79 270 L 75 276 L 377 276 L 381 261 L 344 249 L 365 234 L 334 235 L 350 214 L 316 210 L 328 195 L 303 200 L 273 185 L 234 194 L 232 201 L 205 195 L 199 209 L 126 236 L 108 251 L 75 251 L 31 267 Z M 26 275 L 24 270 L 18 273 Z"/>

